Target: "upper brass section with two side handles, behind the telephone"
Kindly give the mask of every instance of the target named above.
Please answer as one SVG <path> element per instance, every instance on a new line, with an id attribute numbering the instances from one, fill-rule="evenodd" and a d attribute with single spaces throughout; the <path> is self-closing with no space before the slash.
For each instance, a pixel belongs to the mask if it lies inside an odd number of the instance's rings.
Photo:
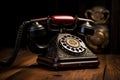
<path id="1" fill-rule="evenodd" d="M 104 24 L 110 16 L 108 9 L 102 6 L 95 6 L 85 11 L 85 17 L 95 21 L 95 24 Z"/>

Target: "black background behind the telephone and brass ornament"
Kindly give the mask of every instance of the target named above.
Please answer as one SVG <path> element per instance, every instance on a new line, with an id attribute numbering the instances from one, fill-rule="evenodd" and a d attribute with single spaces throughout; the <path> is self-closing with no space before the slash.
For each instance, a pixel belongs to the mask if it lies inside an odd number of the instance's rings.
<path id="1" fill-rule="evenodd" d="M 40 1 L 4 1 L 0 3 L 0 47 L 14 47 L 17 29 L 20 24 L 32 18 L 54 14 L 68 14 L 85 17 L 86 9 L 104 6 L 110 10 L 109 51 L 119 53 L 120 47 L 120 1 L 119 0 L 40 0 Z"/>

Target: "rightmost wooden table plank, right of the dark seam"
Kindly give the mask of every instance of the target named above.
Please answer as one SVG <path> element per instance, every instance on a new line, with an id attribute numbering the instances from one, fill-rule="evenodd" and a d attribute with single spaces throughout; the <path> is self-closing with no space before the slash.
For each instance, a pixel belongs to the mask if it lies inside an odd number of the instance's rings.
<path id="1" fill-rule="evenodd" d="M 109 54 L 106 56 L 107 68 L 105 80 L 120 80 L 120 55 Z"/>

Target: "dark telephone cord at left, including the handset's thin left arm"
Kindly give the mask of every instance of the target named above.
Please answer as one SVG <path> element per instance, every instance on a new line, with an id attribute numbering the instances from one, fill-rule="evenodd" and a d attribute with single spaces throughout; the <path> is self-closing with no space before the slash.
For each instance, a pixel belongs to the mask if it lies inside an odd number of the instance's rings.
<path id="1" fill-rule="evenodd" d="M 9 67 L 12 65 L 12 63 L 15 61 L 16 57 L 17 57 L 17 54 L 18 54 L 18 51 L 20 49 L 20 44 L 21 44 L 21 39 L 22 39 L 22 35 L 23 35 L 23 32 L 24 32 L 24 29 L 25 27 L 27 27 L 27 25 L 29 23 L 33 23 L 33 22 L 36 22 L 36 21 L 44 21 L 46 20 L 47 18 L 39 18 L 39 19 L 32 19 L 32 20 L 29 20 L 29 21 L 24 21 L 20 26 L 19 26 L 19 29 L 18 29 L 18 32 L 17 32 L 17 37 L 16 37 L 16 41 L 15 41 L 15 46 L 14 46 L 14 51 L 13 51 L 13 54 L 7 59 L 7 60 L 3 60 L 3 61 L 0 61 L 0 66 L 3 66 L 3 67 Z"/>

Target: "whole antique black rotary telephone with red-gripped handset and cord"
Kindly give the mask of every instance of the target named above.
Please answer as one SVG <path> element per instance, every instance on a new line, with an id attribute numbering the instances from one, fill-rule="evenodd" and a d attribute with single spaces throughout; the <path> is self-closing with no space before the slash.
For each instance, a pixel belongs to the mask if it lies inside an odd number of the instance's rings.
<path id="1" fill-rule="evenodd" d="M 81 22 L 85 22 L 81 25 Z M 38 54 L 39 65 L 52 68 L 97 67 L 98 57 L 87 48 L 82 38 L 93 35 L 90 19 L 68 15 L 54 15 L 31 19 L 20 25 L 12 56 L 0 65 L 10 66 L 20 49 L 23 32 L 27 34 L 28 47 Z M 81 36 L 82 35 L 82 36 Z"/>

